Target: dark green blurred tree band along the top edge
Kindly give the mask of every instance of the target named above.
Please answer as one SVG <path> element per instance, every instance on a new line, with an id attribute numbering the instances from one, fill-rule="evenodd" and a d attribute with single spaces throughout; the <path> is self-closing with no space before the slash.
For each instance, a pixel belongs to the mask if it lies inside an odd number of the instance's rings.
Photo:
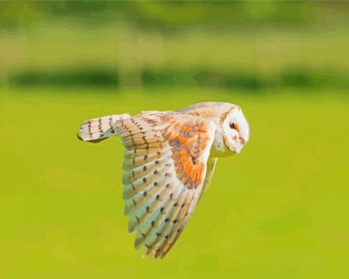
<path id="1" fill-rule="evenodd" d="M 349 5 L 345 1 L 1 1 L 0 27 L 22 27 L 52 16 L 99 24 L 121 18 L 165 30 L 196 24 L 307 24 L 326 22 L 335 10 L 348 13 Z"/>

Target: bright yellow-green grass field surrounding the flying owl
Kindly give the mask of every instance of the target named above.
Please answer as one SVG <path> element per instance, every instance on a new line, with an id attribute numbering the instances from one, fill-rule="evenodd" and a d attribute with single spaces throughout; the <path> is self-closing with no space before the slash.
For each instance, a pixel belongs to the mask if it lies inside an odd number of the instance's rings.
<path id="1" fill-rule="evenodd" d="M 1 278 L 347 278 L 346 93 L 85 89 L 0 92 Z M 81 121 L 196 101 L 244 109 L 250 142 L 218 167 L 162 261 L 127 233 L 122 145 L 77 140 Z"/>

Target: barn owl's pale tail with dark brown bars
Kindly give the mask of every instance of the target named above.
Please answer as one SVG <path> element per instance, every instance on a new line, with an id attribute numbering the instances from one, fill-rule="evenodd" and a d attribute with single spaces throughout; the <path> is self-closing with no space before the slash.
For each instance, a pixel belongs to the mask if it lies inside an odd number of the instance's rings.
<path id="1" fill-rule="evenodd" d="M 89 141 L 90 143 L 99 143 L 109 136 L 115 136 L 115 123 L 120 120 L 129 118 L 129 114 L 109 115 L 84 121 L 80 125 L 77 137 L 81 141 Z"/>

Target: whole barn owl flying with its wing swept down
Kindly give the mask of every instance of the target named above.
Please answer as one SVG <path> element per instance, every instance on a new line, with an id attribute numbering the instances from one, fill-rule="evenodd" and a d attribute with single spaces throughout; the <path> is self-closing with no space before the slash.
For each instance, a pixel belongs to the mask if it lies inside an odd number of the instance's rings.
<path id="1" fill-rule="evenodd" d="M 120 136 L 123 198 L 135 248 L 164 258 L 187 225 L 218 157 L 240 153 L 250 135 L 239 106 L 206 102 L 168 112 L 110 115 L 81 124 L 79 138 Z"/>

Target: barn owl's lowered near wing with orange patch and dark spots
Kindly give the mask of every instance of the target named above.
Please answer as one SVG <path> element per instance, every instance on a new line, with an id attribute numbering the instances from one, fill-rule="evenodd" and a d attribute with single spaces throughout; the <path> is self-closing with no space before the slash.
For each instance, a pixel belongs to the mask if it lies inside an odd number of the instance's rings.
<path id="1" fill-rule="evenodd" d="M 140 115 L 116 125 L 126 147 L 125 215 L 135 248 L 163 258 L 188 223 L 203 192 L 216 126 L 178 114 Z M 207 180 L 206 180 L 207 181 Z"/>

